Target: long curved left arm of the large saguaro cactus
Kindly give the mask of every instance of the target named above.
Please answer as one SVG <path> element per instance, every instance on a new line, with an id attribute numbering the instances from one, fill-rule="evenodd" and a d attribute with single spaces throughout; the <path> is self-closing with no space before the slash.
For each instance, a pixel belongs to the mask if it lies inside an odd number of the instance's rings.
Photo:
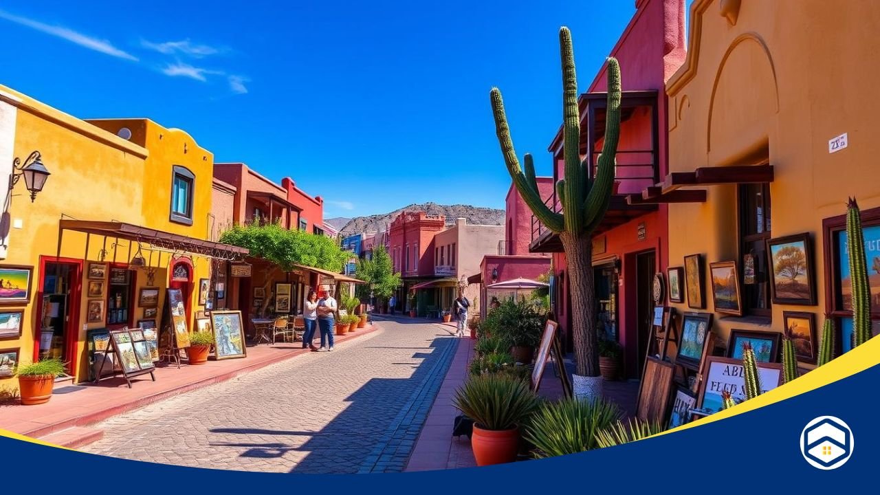
<path id="1" fill-rule="evenodd" d="M 504 163 L 507 165 L 507 171 L 510 173 L 514 186 L 519 191 L 519 194 L 523 196 L 523 201 L 542 224 L 555 233 L 562 232 L 564 228 L 562 215 L 554 213 L 554 211 L 547 208 L 538 194 L 537 187 L 532 188 L 522 168 L 519 166 L 517 152 L 514 150 L 513 140 L 510 138 L 510 126 L 507 123 L 507 115 L 504 113 L 504 100 L 502 100 L 501 92 L 498 88 L 492 88 L 490 97 L 492 100 L 492 114 L 495 116 L 495 132 L 498 135 L 498 143 L 501 144 Z"/>

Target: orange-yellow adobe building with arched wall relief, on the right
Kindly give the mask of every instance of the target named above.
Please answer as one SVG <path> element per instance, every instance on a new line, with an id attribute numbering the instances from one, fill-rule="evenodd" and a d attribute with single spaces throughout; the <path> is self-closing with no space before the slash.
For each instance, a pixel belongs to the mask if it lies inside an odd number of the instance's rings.
<path id="1" fill-rule="evenodd" d="M 880 318 L 878 24 L 871 0 L 691 6 L 686 62 L 666 85 L 671 174 L 642 196 L 671 205 L 669 266 L 693 269 L 686 256 L 700 255 L 705 270 L 703 300 L 688 270 L 671 306 L 714 314 L 729 355 L 733 330 L 788 327 L 809 369 L 825 314 L 837 323 L 838 352 L 851 348 L 848 196 L 862 207 Z M 787 246 L 800 252 L 794 268 L 780 255 Z M 719 262 L 735 265 L 713 268 Z"/>

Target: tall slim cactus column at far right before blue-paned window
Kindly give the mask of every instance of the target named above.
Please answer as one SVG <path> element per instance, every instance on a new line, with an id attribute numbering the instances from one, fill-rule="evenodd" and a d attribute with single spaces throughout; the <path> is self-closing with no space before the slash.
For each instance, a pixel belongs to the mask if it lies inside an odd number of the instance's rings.
<path id="1" fill-rule="evenodd" d="M 849 198 L 847 204 L 847 252 L 852 286 L 853 334 L 855 345 L 862 345 L 871 338 L 871 288 L 868 283 L 868 263 L 865 261 L 862 217 L 854 197 Z"/>

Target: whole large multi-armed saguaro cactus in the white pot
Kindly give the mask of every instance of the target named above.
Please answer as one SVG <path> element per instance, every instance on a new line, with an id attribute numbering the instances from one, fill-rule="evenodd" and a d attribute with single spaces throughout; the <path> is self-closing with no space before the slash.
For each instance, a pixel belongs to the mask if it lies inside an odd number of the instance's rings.
<path id="1" fill-rule="evenodd" d="M 562 205 L 561 213 L 549 209 L 541 199 L 535 181 L 532 155 L 524 156 L 525 170 L 520 167 L 517 152 L 510 138 L 510 127 L 504 113 L 501 92 L 490 93 L 495 115 L 495 130 L 501 144 L 504 162 L 510 177 L 526 204 L 547 229 L 558 233 L 568 262 L 568 283 L 571 289 L 573 311 L 572 330 L 575 341 L 576 374 L 598 377 L 598 345 L 596 333 L 596 295 L 593 292 L 592 233 L 605 217 L 611 202 L 614 183 L 614 158 L 620 137 L 620 64 L 607 59 L 608 77 L 607 112 L 605 114 L 605 144 L 598 159 L 598 173 L 590 177 L 589 160 L 581 160 L 581 126 L 577 107 L 577 78 L 571 33 L 567 27 L 559 32 L 562 89 L 563 89 L 563 179 L 556 183 L 556 194 Z M 591 144 L 588 144 L 591 145 Z M 598 381 L 593 387 L 601 387 Z M 596 390 L 595 395 L 601 394 Z"/>

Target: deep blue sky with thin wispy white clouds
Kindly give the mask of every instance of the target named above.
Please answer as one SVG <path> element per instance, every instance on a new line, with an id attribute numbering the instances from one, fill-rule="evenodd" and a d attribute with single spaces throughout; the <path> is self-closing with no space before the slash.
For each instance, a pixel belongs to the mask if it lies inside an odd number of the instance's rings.
<path id="1" fill-rule="evenodd" d="M 323 196 L 326 218 L 427 201 L 503 208 L 489 89 L 502 89 L 517 152 L 549 174 L 559 26 L 574 34 L 583 91 L 634 4 L 11 0 L 0 84 L 81 118 L 185 129 L 217 161 Z"/>

